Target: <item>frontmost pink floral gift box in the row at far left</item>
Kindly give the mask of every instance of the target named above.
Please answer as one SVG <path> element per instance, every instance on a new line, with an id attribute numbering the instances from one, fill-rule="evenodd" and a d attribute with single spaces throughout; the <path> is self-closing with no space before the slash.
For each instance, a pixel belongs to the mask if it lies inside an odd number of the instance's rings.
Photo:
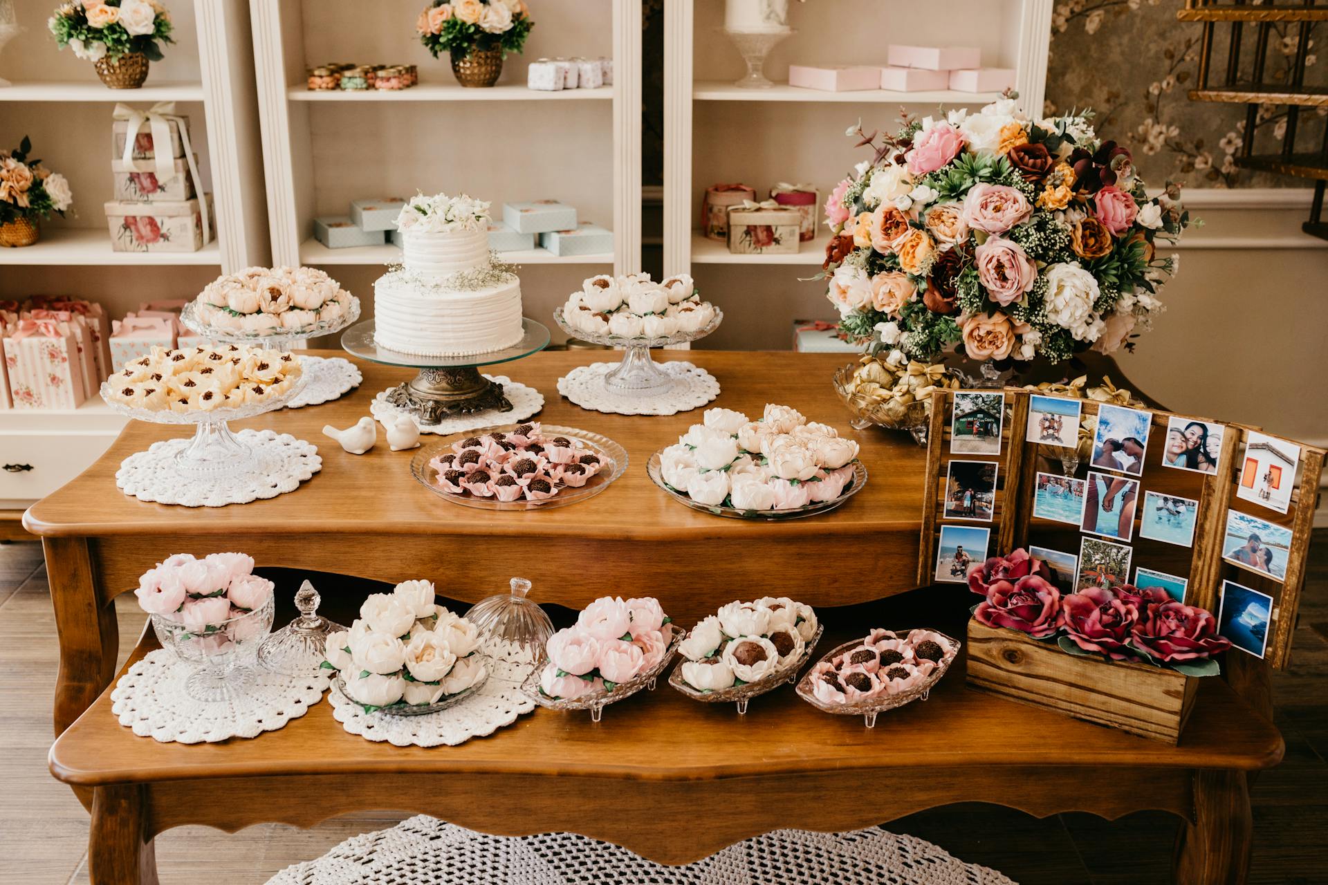
<path id="1" fill-rule="evenodd" d="M 77 409 L 88 398 L 78 342 L 54 320 L 19 320 L 4 340 L 15 409 Z"/>

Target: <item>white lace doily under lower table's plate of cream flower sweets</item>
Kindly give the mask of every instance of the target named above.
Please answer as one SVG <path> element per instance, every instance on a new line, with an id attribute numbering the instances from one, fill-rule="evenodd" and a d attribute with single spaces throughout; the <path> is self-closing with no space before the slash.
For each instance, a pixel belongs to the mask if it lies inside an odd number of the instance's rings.
<path id="1" fill-rule="evenodd" d="M 454 707 L 422 716 L 365 713 L 333 686 L 328 693 L 332 718 L 353 735 L 367 740 L 386 740 L 397 747 L 453 747 L 471 738 L 490 735 L 535 709 L 535 702 L 521 690 L 521 683 L 535 665 L 529 654 L 514 647 L 487 645 L 485 651 L 493 671 L 478 691 Z"/>

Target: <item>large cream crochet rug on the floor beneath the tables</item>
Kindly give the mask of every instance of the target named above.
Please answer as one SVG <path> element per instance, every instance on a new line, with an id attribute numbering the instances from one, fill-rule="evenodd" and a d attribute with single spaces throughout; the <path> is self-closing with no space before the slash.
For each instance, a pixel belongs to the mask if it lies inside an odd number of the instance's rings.
<path id="1" fill-rule="evenodd" d="M 418 815 L 287 866 L 267 885 L 1015 885 L 914 836 L 776 829 L 664 866 L 574 833 L 486 836 Z"/>

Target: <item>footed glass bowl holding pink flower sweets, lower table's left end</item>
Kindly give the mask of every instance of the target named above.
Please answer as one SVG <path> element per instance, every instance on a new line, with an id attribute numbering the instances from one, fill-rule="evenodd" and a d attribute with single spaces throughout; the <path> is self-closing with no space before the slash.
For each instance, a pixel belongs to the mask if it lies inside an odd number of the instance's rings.
<path id="1" fill-rule="evenodd" d="M 194 701 L 231 701 L 254 685 L 258 646 L 272 629 L 272 597 L 259 608 L 210 624 L 185 624 L 166 614 L 151 614 L 153 630 L 162 647 L 181 661 L 199 665 L 186 681 L 185 693 Z"/>

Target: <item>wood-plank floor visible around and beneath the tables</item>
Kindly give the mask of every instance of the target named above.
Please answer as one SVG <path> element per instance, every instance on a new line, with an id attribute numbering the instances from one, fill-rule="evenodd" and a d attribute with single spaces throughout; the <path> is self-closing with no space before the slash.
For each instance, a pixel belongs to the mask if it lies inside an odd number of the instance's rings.
<path id="1" fill-rule="evenodd" d="M 131 594 L 117 600 L 117 610 L 124 654 L 137 641 L 143 616 Z M 46 771 L 56 659 L 41 548 L 0 544 L 0 882 L 88 881 L 88 815 Z M 1323 839 L 1328 831 L 1328 532 L 1316 536 L 1311 553 L 1293 661 L 1291 670 L 1274 678 L 1287 756 L 1252 791 L 1251 882 L 1328 882 Z M 938 730 L 943 738 L 944 723 Z M 1017 756 L 1020 747 L 1009 752 Z M 1084 789 L 1092 791 L 1093 784 Z M 268 824 L 235 835 L 202 827 L 173 829 L 157 839 L 161 878 L 165 885 L 264 882 L 283 866 L 401 817 L 344 817 L 308 831 Z M 1150 812 L 1117 821 L 1092 815 L 1037 820 L 973 804 L 903 817 L 888 829 L 927 839 L 1024 885 L 1149 885 L 1167 881 L 1177 821 Z"/>

